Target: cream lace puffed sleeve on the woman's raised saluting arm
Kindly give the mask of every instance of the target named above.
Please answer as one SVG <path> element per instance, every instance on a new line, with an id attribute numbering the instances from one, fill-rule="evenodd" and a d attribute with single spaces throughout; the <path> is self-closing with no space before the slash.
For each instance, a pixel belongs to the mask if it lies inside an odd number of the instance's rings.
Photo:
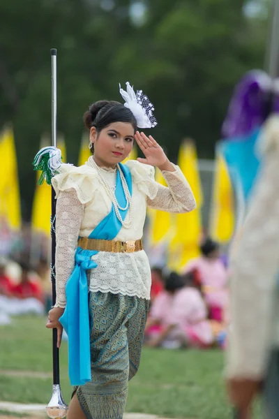
<path id="1" fill-rule="evenodd" d="M 145 165 L 139 161 L 128 161 L 133 181 L 138 188 L 146 193 L 147 205 L 155 210 L 166 212 L 190 212 L 195 210 L 196 203 L 190 185 L 181 172 L 179 166 L 174 166 L 174 172 L 163 171 L 167 186 L 156 182 L 153 166 Z"/>

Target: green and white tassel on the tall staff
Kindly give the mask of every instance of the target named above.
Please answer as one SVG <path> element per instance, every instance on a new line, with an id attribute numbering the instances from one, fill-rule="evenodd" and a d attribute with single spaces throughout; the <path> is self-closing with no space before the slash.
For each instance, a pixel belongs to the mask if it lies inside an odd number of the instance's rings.
<path id="1" fill-rule="evenodd" d="M 61 162 L 61 150 L 56 147 L 43 147 L 36 154 L 33 161 L 34 170 L 42 170 L 38 184 L 42 185 L 44 180 L 47 184 L 51 184 L 52 177 L 58 173 Z"/>

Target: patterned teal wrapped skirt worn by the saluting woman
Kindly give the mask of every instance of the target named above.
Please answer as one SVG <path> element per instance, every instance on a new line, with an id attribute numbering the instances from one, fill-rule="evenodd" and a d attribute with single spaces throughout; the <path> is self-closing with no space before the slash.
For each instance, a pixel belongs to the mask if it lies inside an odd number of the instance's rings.
<path id="1" fill-rule="evenodd" d="M 120 419 L 140 365 L 149 300 L 90 293 L 91 381 L 77 390 L 86 419 Z"/>

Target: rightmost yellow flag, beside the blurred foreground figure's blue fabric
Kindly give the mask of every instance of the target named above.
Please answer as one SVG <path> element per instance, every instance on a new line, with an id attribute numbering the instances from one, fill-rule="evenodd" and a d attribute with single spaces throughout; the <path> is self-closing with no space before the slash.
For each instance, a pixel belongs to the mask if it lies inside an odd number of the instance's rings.
<path id="1" fill-rule="evenodd" d="M 234 193 L 225 159 L 220 152 L 216 153 L 210 233 L 221 243 L 229 242 L 234 233 Z"/>

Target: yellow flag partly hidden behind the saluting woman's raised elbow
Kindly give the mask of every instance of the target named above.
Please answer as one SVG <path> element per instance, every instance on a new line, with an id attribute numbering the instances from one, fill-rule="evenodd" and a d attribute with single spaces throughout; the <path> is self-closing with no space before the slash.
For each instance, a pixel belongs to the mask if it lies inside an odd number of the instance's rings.
<path id="1" fill-rule="evenodd" d="M 202 186 L 195 144 L 184 141 L 179 149 L 179 167 L 188 180 L 197 202 L 197 208 L 186 214 L 176 215 L 176 234 L 169 247 L 169 266 L 174 270 L 181 268 L 188 260 L 199 255 L 199 241 L 202 236 L 203 202 Z"/>

